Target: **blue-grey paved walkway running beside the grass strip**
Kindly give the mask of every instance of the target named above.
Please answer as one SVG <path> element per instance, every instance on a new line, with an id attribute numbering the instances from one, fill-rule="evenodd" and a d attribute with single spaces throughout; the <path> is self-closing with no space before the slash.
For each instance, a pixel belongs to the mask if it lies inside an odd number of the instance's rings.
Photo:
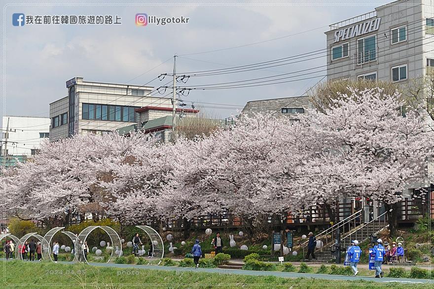
<path id="1" fill-rule="evenodd" d="M 71 264 L 72 262 L 62 261 L 61 263 Z M 434 284 L 434 280 L 430 279 L 409 279 L 409 278 L 373 278 L 364 276 L 344 276 L 344 275 L 328 275 L 328 274 L 311 274 L 311 273 L 289 273 L 289 272 L 274 272 L 274 271 L 251 271 L 251 270 L 237 270 L 237 269 L 219 269 L 219 268 L 183 268 L 183 267 L 168 267 L 168 266 L 157 266 L 157 265 L 130 265 L 130 264 L 115 264 L 115 263 L 89 263 L 93 266 L 98 267 L 110 267 L 110 268 L 138 268 L 138 269 L 152 269 L 152 270 L 164 270 L 164 271 L 174 271 L 176 273 L 180 272 L 207 272 L 207 273 L 217 273 L 217 274 L 227 274 L 227 275 L 254 275 L 254 276 L 276 276 L 283 278 L 315 278 L 324 280 L 364 280 L 364 281 L 374 281 L 379 283 L 414 283 L 423 284 L 429 283 Z"/>

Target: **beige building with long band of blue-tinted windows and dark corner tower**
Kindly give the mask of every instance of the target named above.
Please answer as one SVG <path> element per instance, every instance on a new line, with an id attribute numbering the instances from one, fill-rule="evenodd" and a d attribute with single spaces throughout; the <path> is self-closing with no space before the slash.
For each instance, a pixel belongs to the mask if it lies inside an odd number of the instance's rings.
<path id="1" fill-rule="evenodd" d="M 137 108 L 172 108 L 170 98 L 152 96 L 152 87 L 67 81 L 68 96 L 50 103 L 50 140 L 77 133 L 101 133 L 138 122 Z"/>

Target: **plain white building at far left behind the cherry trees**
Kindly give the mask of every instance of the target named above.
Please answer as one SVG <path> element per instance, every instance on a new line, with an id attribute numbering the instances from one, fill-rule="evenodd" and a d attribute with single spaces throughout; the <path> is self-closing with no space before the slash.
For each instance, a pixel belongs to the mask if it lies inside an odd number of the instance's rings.
<path id="1" fill-rule="evenodd" d="M 49 131 L 50 119 L 46 117 L 3 116 L 0 164 L 13 165 L 35 155 Z"/>

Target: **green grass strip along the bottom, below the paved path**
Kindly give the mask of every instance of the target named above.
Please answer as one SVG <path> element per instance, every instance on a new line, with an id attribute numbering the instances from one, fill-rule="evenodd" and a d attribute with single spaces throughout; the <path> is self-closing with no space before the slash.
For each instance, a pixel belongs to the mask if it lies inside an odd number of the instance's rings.
<path id="1" fill-rule="evenodd" d="M 136 268 L 106 268 L 85 264 L 1 261 L 1 288 L 408 288 L 366 281 L 332 281 L 275 276 L 225 275 L 204 272 L 157 271 Z M 413 286 L 414 287 L 414 284 Z"/>

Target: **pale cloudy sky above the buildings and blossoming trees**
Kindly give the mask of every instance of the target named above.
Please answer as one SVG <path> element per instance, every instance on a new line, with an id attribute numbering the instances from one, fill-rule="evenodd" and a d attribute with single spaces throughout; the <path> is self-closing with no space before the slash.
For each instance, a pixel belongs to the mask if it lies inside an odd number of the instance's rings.
<path id="1" fill-rule="evenodd" d="M 49 103 L 67 96 L 65 82 L 76 76 L 88 81 L 144 85 L 160 73 L 171 73 L 174 55 L 179 56 L 177 73 L 182 73 L 266 62 L 324 49 L 324 32 L 328 25 L 373 11 L 390 1 L 324 0 L 293 4 L 76 2 L 62 4 L 43 0 L 25 5 L 3 4 L 0 117 L 48 117 Z M 12 25 L 13 13 L 33 17 L 110 15 L 115 18 L 117 15 L 121 24 L 16 27 Z M 156 17 L 183 16 L 189 21 L 138 26 L 135 23 L 138 13 Z M 191 77 L 186 84 L 179 85 L 260 78 L 325 64 L 325 57 L 303 59 L 268 69 Z M 195 90 L 182 99 L 186 107 L 193 104 L 208 116 L 225 118 L 238 114 L 247 101 L 303 95 L 324 74 L 318 72 L 309 75 L 318 76 L 316 78 L 268 86 Z M 168 78 L 163 81 L 156 79 L 148 86 L 159 87 Z"/>

